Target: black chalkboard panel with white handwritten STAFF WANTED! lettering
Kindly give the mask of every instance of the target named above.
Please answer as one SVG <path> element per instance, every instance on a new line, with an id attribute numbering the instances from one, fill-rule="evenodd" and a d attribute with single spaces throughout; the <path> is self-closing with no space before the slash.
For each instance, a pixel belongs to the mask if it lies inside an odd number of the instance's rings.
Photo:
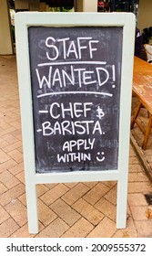
<path id="1" fill-rule="evenodd" d="M 35 172 L 116 170 L 122 27 L 29 27 Z"/>

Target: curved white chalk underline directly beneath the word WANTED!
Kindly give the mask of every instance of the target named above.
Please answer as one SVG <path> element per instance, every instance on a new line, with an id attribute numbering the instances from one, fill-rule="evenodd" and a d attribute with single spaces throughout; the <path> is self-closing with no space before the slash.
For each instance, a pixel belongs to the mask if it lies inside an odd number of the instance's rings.
<path id="1" fill-rule="evenodd" d="M 113 96 L 112 93 L 98 92 L 98 91 L 56 91 L 56 92 L 48 92 L 48 93 L 37 95 L 37 98 L 42 98 L 49 95 L 59 95 L 59 94 L 95 94 L 95 95 L 104 95 L 108 97 Z"/>

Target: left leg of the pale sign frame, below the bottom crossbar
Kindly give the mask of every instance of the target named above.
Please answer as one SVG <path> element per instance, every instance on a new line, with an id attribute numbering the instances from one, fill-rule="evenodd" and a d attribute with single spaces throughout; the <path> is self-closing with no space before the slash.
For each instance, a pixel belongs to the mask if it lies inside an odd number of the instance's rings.
<path id="1" fill-rule="evenodd" d="M 30 234 L 38 233 L 38 212 L 36 185 L 26 184 L 28 231 Z"/>

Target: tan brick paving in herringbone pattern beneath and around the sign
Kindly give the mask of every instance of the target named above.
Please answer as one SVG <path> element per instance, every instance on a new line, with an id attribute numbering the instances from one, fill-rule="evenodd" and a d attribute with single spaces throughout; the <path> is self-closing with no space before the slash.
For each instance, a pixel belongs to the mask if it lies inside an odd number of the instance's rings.
<path id="1" fill-rule="evenodd" d="M 150 142 L 149 142 L 150 144 Z M 147 148 L 152 162 L 151 148 Z M 127 229 L 116 229 L 117 182 L 37 186 L 39 233 L 27 229 L 15 56 L 0 57 L 0 237 L 152 237 L 151 184 L 130 146 Z"/>

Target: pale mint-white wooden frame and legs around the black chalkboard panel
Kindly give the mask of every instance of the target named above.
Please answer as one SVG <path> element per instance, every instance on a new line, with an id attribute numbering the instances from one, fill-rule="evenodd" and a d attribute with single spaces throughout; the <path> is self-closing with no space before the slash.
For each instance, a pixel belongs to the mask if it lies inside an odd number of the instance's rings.
<path id="1" fill-rule="evenodd" d="M 35 173 L 34 123 L 27 35 L 27 28 L 30 26 L 123 27 L 117 170 L 47 174 Z M 126 228 L 127 176 L 135 41 L 135 16 L 131 13 L 18 13 L 15 16 L 15 39 L 22 118 L 25 187 L 29 233 L 38 232 L 36 184 L 82 181 L 117 181 L 117 229 Z"/>

